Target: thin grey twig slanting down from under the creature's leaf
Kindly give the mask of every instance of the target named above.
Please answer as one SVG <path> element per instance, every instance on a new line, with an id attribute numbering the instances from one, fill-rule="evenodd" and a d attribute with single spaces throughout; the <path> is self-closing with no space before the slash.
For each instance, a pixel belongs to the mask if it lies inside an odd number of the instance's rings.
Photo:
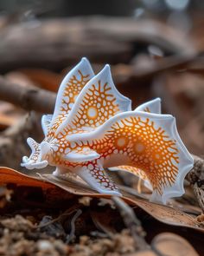
<path id="1" fill-rule="evenodd" d="M 130 229 L 131 235 L 136 242 L 139 250 L 149 249 L 150 246 L 143 239 L 144 231 L 140 220 L 137 219 L 132 208 L 129 207 L 124 200 L 121 200 L 117 196 L 112 197 L 116 207 L 118 207 L 122 217 L 124 218 L 124 224 Z"/>

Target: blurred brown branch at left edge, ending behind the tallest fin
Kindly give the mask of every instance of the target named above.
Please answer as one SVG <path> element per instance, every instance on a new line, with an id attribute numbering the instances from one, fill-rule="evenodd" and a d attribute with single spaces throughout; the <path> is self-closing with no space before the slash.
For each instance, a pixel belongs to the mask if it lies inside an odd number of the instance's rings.
<path id="1" fill-rule="evenodd" d="M 0 76 L 0 99 L 26 110 L 52 113 L 56 95 L 44 89 L 27 88 L 8 82 L 3 76 Z"/>

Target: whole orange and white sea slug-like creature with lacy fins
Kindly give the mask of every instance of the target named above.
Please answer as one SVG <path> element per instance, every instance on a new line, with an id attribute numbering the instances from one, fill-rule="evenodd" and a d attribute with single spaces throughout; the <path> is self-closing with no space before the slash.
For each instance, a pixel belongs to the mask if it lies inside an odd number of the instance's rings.
<path id="1" fill-rule="evenodd" d="M 152 187 L 151 200 L 165 203 L 184 193 L 193 159 L 178 135 L 175 118 L 161 114 L 160 99 L 131 110 L 131 100 L 112 82 L 109 65 L 94 75 L 86 58 L 61 82 L 54 115 L 43 115 L 45 139 L 28 138 L 28 169 L 55 166 L 103 194 L 120 195 L 105 168 L 136 174 Z"/>

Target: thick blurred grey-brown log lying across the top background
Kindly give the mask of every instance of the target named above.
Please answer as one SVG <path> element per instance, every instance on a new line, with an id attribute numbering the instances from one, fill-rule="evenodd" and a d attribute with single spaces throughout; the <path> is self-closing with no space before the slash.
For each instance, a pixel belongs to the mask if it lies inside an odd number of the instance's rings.
<path id="1" fill-rule="evenodd" d="M 95 62 L 130 62 L 138 43 L 156 45 L 175 56 L 194 53 L 190 38 L 185 40 L 181 31 L 155 20 L 82 16 L 41 20 L 35 29 L 29 24 L 19 23 L 1 30 L 3 73 L 24 67 L 64 69 L 67 64 L 79 61 L 82 53 Z"/>

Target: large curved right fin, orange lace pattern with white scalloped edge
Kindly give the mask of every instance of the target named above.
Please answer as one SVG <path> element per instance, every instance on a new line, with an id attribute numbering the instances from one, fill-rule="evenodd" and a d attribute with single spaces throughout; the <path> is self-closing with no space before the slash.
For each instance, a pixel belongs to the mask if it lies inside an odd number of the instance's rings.
<path id="1" fill-rule="evenodd" d="M 118 155 L 118 161 L 123 154 L 129 159 L 124 165 L 142 169 L 153 187 L 152 200 L 165 203 L 184 193 L 184 177 L 193 167 L 193 158 L 171 115 L 121 113 L 83 137 L 99 148 L 108 143 L 109 151 Z M 103 157 L 105 150 L 98 153 Z M 109 164 L 116 166 L 115 162 Z"/>

